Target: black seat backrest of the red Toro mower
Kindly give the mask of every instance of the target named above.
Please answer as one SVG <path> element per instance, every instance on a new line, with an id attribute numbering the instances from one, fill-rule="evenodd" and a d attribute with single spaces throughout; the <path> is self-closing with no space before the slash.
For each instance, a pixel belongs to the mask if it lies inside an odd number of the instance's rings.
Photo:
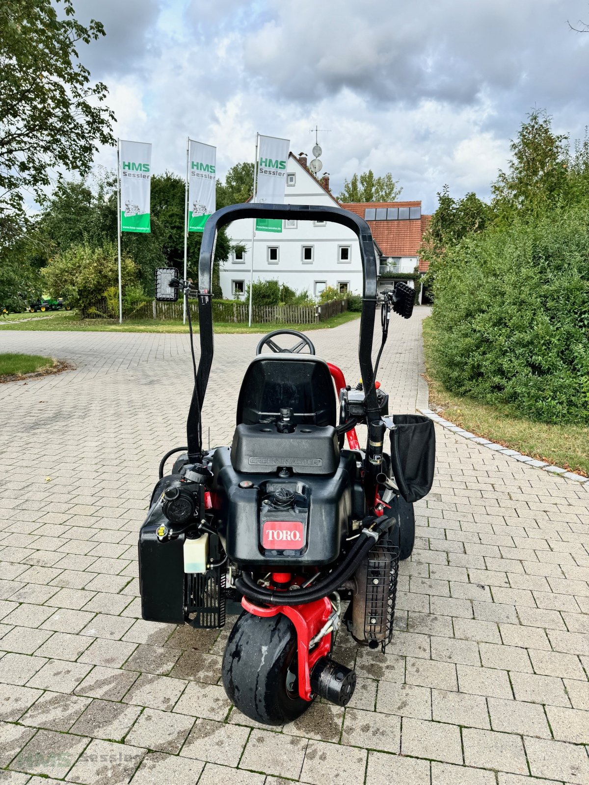
<path id="1" fill-rule="evenodd" d="M 290 353 L 254 357 L 241 383 L 237 425 L 275 420 L 287 407 L 294 425 L 335 426 L 335 388 L 325 360 Z"/>

